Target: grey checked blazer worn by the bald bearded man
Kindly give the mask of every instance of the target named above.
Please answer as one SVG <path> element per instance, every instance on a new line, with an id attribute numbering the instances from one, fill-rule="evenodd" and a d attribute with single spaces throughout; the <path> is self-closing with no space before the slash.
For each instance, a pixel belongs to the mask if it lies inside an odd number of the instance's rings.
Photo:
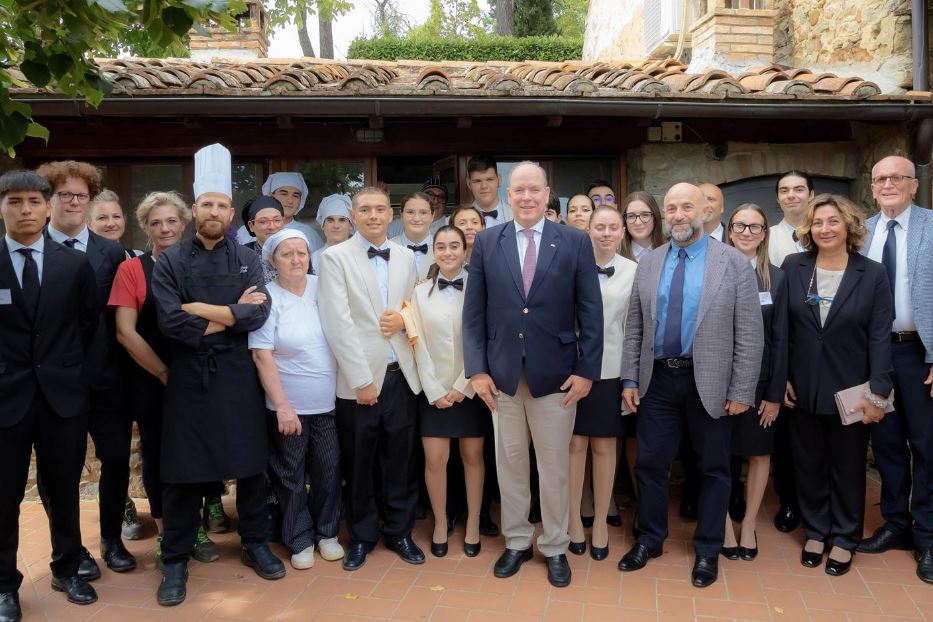
<path id="1" fill-rule="evenodd" d="M 622 378 L 638 381 L 640 397 L 651 384 L 658 285 L 670 246 L 656 248 L 638 263 L 625 323 Z M 755 271 L 742 253 L 710 239 L 693 337 L 693 376 L 711 417 L 725 415 L 727 399 L 755 404 L 763 348 Z"/>

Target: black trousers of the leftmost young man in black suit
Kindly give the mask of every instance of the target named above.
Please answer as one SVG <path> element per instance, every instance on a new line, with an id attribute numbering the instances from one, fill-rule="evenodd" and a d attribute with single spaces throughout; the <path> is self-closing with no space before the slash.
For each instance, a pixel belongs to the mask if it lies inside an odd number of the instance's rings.
<path id="1" fill-rule="evenodd" d="M 16 569 L 19 506 L 33 448 L 38 475 L 45 482 L 52 574 L 64 579 L 78 571 L 82 550 L 78 483 L 87 451 L 87 416 L 62 419 L 37 388 L 26 416 L 0 428 L 0 592 L 15 592 L 23 581 Z"/>

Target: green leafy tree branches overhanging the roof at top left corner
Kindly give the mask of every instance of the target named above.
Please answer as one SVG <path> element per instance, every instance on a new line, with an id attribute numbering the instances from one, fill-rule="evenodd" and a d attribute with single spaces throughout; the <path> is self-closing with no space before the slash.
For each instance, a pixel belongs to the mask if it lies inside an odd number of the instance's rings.
<path id="1" fill-rule="evenodd" d="M 33 86 L 97 106 L 110 84 L 92 59 L 112 55 L 121 37 L 134 33 L 151 42 L 150 52 L 170 50 L 196 23 L 235 28 L 232 15 L 243 8 L 242 0 L 0 0 L 0 150 L 13 156 L 27 136 L 48 140 L 30 106 L 10 96 L 29 86 L 14 66 Z"/>

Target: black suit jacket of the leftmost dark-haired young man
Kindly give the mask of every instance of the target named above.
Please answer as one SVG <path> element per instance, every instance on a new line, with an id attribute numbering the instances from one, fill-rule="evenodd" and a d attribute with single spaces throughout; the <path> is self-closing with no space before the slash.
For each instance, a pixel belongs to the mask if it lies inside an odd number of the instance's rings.
<path id="1" fill-rule="evenodd" d="M 0 236 L 0 289 L 10 290 L 12 298 L 11 304 L 0 305 L 0 428 L 22 420 L 37 387 L 58 416 L 86 413 L 82 371 L 100 306 L 94 271 L 84 254 L 46 238 L 33 317 Z"/>

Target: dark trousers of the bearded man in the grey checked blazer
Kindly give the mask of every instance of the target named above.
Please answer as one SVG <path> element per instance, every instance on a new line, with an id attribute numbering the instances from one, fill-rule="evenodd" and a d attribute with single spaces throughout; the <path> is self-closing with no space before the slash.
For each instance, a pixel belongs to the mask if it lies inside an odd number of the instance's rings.
<path id="1" fill-rule="evenodd" d="M 638 416 L 635 476 L 640 543 L 661 548 L 667 538 L 668 473 L 687 432 L 700 476 L 693 545 L 699 556 L 719 555 L 729 505 L 731 431 L 725 416 L 714 419 L 706 412 L 693 369 L 655 364 Z"/>

